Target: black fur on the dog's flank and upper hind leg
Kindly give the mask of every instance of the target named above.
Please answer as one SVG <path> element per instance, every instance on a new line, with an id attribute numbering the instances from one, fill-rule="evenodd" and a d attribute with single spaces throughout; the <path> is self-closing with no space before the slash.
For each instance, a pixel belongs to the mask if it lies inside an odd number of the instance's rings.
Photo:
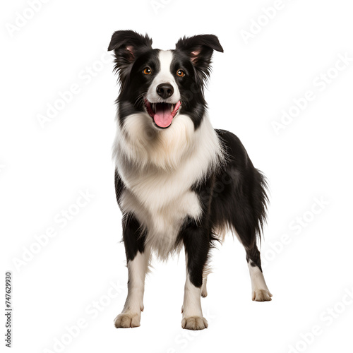
<path id="1" fill-rule="evenodd" d="M 256 240 L 261 240 L 266 218 L 265 177 L 253 167 L 237 136 L 225 130 L 217 133 L 227 151 L 227 162 L 216 177 L 219 191 L 213 192 L 210 211 L 213 226 L 227 225 L 237 232 L 246 250 L 246 260 L 261 269 Z"/>

